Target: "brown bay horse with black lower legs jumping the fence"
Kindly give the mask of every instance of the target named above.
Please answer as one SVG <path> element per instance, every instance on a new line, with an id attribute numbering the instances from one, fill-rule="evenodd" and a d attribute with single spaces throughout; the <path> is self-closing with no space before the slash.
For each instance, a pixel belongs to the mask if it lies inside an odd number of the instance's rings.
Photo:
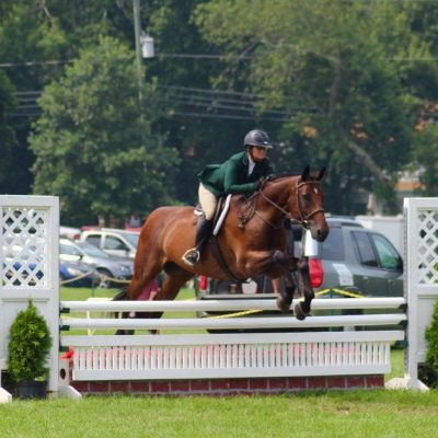
<path id="1" fill-rule="evenodd" d="M 296 281 L 291 270 L 299 261 L 286 254 L 287 231 L 285 219 L 291 218 L 310 229 L 313 239 L 323 241 L 328 233 L 324 215 L 324 194 L 321 181 L 325 169 L 315 175 L 307 166 L 301 175 L 269 177 L 250 197 L 233 195 L 227 218 L 215 238 L 226 263 L 219 263 L 210 243 L 205 244 L 196 266 L 182 261 L 193 246 L 197 217 L 194 207 L 161 207 L 153 210 L 145 222 L 134 262 L 134 277 L 126 298 L 136 300 L 147 285 L 164 269 L 166 273 L 155 300 L 173 300 L 180 289 L 195 275 L 216 279 L 245 280 L 260 274 L 272 278 L 285 275 L 286 288 L 277 298 L 277 307 L 288 312 L 292 303 Z M 314 298 L 310 280 L 301 285 L 304 301 L 295 308 L 303 320 L 310 313 Z"/>

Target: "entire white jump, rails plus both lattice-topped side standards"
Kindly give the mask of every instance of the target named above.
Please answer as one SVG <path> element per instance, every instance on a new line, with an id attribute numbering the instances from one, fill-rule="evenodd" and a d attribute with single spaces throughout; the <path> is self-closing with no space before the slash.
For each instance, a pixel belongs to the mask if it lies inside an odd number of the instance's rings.
<path id="1" fill-rule="evenodd" d="M 58 342 L 76 348 L 73 379 L 186 379 L 268 376 L 339 376 L 390 371 L 390 344 L 407 339 L 406 376 L 399 384 L 419 388 L 417 365 L 424 361 L 425 327 L 438 298 L 438 199 L 405 199 L 405 298 L 314 300 L 313 309 L 387 309 L 364 315 L 320 315 L 297 321 L 289 315 L 229 319 L 114 320 L 58 318 L 60 307 L 72 312 L 119 311 L 245 311 L 273 310 L 274 300 L 218 302 L 59 302 L 59 206 L 55 197 L 0 196 L 0 377 L 5 368 L 8 333 L 19 310 L 32 298 L 50 324 L 54 348 L 50 391 L 69 392 L 66 369 L 58 369 Z M 16 247 L 22 250 L 13 252 Z M 32 258 L 38 276 L 30 266 Z M 9 253 L 13 254 L 12 258 Z M 7 254 L 8 253 L 8 254 Z M 27 257 L 27 258 L 26 258 Z M 16 264 L 18 263 L 18 264 Z M 12 275 L 11 275 L 12 273 Z M 397 311 L 407 306 L 407 314 Z M 388 311 L 389 310 L 389 311 Z M 407 331 L 393 330 L 408 321 Z M 59 337 L 59 324 L 83 335 Z M 382 326 L 387 325 L 387 330 Z M 366 331 L 334 327 L 366 326 Z M 310 332 L 311 328 L 325 331 Z M 389 328 L 390 327 L 390 328 Z M 112 334 L 88 335 L 88 330 L 149 328 L 169 331 L 254 330 L 257 333 Z M 285 333 L 269 331 L 293 330 Z M 389 328 L 389 330 L 388 330 Z M 296 331 L 301 330 L 301 331 Z M 333 330 L 333 331 L 331 331 Z M 258 333 L 265 331 L 264 333 Z M 113 333 L 113 332 L 112 332 Z M 65 364 L 62 364 L 64 366 Z M 61 374 L 61 378 L 59 376 Z M 1 383 L 1 381 L 0 381 Z M 10 395 L 0 388 L 0 401 Z"/>

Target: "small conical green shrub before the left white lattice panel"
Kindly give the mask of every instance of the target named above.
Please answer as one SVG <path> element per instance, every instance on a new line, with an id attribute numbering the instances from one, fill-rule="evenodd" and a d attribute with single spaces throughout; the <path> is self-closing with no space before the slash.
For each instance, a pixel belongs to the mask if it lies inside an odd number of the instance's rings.
<path id="1" fill-rule="evenodd" d="M 45 319 L 30 300 L 10 330 L 8 369 L 15 382 L 46 378 L 51 343 Z"/>

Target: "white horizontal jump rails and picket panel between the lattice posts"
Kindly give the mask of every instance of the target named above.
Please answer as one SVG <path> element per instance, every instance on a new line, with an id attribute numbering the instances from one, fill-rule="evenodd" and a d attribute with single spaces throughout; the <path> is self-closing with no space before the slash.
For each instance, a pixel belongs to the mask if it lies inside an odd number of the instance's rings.
<path id="1" fill-rule="evenodd" d="M 405 304 L 403 298 L 315 299 L 313 309 L 391 309 Z M 276 310 L 275 300 L 72 302 L 71 312 L 108 311 L 244 311 Z M 70 330 L 257 330 L 292 328 L 287 333 L 209 333 L 161 335 L 65 335 L 61 345 L 74 348 L 73 380 L 215 379 L 241 377 L 302 377 L 376 374 L 390 372 L 390 345 L 404 339 L 405 332 L 381 330 L 406 321 L 404 311 L 367 315 L 321 315 L 298 321 L 275 316 L 139 319 L 73 318 L 62 315 L 61 327 Z M 343 332 L 343 326 L 373 330 Z M 311 332 L 311 328 L 327 331 Z M 389 328 L 389 327 L 387 327 Z M 302 332 L 296 332 L 302 330 Z"/>

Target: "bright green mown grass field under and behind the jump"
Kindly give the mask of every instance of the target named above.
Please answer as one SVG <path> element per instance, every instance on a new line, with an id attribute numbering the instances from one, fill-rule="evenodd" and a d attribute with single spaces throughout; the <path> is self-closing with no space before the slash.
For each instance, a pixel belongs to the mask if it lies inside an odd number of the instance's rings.
<path id="1" fill-rule="evenodd" d="M 62 289 L 64 300 L 89 290 Z M 114 296 L 95 290 L 94 296 Z M 180 299 L 189 299 L 191 290 Z M 403 376 L 403 350 L 392 351 Z M 336 391 L 269 396 L 88 396 L 0 405 L 0 437 L 434 437 L 438 391 Z"/>

